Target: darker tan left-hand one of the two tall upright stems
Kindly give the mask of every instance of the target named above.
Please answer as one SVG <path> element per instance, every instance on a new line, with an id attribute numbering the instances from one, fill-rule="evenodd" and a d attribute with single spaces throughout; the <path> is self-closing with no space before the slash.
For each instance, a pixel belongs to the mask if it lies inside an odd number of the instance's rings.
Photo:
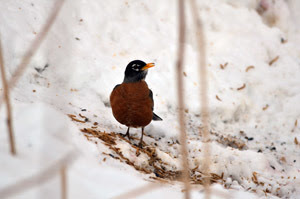
<path id="1" fill-rule="evenodd" d="M 189 163 L 188 163 L 188 150 L 187 150 L 187 136 L 185 131 L 185 104 L 184 104 L 184 85 L 183 85 L 183 61 L 184 61 L 184 42 L 185 42 L 185 12 L 184 12 L 184 0 L 178 0 L 178 11 L 179 11 L 179 40 L 178 40 L 178 51 L 177 51 L 177 98 L 178 98 L 178 119 L 180 124 L 180 143 L 181 143 L 181 165 L 182 165 L 182 180 L 184 182 L 185 199 L 190 198 L 190 175 L 189 175 Z"/>

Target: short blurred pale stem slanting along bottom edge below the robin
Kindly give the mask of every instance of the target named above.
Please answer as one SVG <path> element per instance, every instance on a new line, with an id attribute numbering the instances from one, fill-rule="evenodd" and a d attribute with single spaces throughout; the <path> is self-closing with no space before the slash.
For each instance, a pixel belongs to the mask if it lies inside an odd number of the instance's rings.
<path id="1" fill-rule="evenodd" d="M 154 189 L 157 189 L 157 188 L 161 188 L 161 186 L 163 186 L 163 184 L 160 184 L 160 183 L 149 183 L 149 184 L 146 184 L 142 187 L 138 187 L 136 189 L 133 189 L 131 191 L 128 191 L 124 194 L 121 194 L 119 196 L 116 196 L 116 197 L 113 197 L 112 199 L 129 199 L 129 198 L 136 198 L 140 195 L 143 195 L 149 191 L 152 191 Z"/>

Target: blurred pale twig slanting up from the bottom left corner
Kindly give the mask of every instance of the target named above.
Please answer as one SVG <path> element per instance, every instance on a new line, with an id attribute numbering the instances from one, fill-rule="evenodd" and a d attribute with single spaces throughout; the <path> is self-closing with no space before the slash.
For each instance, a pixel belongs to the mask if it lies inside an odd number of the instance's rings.
<path id="1" fill-rule="evenodd" d="M 42 170 L 38 174 L 0 189 L 0 198 L 4 199 L 11 197 L 54 178 L 56 174 L 61 171 L 61 168 L 66 165 L 70 165 L 75 160 L 76 156 L 76 151 L 71 151 L 62 159 Z"/>

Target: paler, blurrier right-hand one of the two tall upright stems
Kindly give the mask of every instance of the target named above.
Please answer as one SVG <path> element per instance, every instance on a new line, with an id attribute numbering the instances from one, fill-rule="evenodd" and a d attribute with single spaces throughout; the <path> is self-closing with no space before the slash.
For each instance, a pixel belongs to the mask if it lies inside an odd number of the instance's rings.
<path id="1" fill-rule="evenodd" d="M 207 79 L 207 68 L 206 68 L 206 50 L 205 50 L 205 36 L 204 36 L 204 28 L 202 21 L 200 19 L 197 4 L 195 0 L 190 1 L 190 7 L 192 9 L 192 16 L 194 19 L 194 23 L 196 26 L 196 36 L 198 43 L 198 63 L 199 63 L 199 77 L 200 77 L 200 99 L 201 99 L 201 120 L 203 125 L 203 139 L 204 139 L 204 165 L 203 165 L 203 173 L 206 176 L 209 176 L 210 173 L 210 143 L 209 143 L 209 111 L 208 111 L 208 79 Z M 210 198 L 210 179 L 204 179 L 204 187 L 205 187 L 205 198 Z"/>

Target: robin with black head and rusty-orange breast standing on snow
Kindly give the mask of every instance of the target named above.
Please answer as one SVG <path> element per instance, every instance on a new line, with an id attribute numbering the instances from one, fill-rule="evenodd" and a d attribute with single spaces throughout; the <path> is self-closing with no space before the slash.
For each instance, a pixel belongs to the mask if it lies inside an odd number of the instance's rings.
<path id="1" fill-rule="evenodd" d="M 130 128 L 142 128 L 139 143 L 141 148 L 145 126 L 152 120 L 162 120 L 153 112 L 153 93 L 145 81 L 148 68 L 151 67 L 154 67 L 154 63 L 146 64 L 140 60 L 130 62 L 126 67 L 122 84 L 116 85 L 110 94 L 114 117 L 128 127 L 125 136 L 130 139 Z"/>

